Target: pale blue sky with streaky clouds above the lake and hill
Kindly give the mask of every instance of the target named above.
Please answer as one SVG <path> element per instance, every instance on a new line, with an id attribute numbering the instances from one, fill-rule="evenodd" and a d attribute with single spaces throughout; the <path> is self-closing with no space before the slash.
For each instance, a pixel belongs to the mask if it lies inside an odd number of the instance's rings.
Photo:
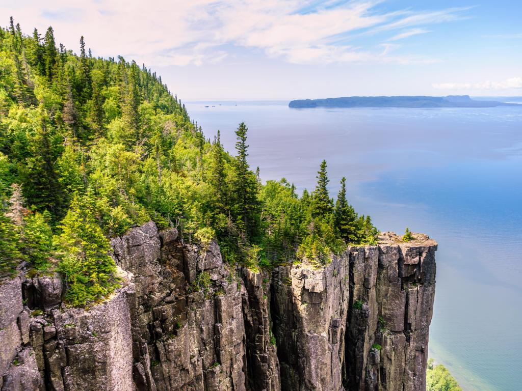
<path id="1" fill-rule="evenodd" d="M 0 15 L 145 63 L 185 101 L 522 95 L 519 0 L 2 0 Z"/>

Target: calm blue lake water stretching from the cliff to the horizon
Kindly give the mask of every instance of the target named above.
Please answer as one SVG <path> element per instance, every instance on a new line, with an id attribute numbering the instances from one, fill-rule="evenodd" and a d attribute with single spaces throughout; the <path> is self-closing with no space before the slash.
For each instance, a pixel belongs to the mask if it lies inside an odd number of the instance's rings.
<path id="1" fill-rule="evenodd" d="M 522 389 L 522 107 L 187 109 L 232 152 L 245 121 L 262 179 L 313 189 L 324 158 L 333 196 L 346 176 L 350 202 L 379 229 L 436 239 L 430 356 L 465 391 Z"/>

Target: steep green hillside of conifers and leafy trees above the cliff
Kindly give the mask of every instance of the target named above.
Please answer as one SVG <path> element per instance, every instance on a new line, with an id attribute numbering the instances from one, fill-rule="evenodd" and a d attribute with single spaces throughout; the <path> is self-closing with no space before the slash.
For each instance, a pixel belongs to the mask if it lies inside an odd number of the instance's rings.
<path id="1" fill-rule="evenodd" d="M 50 27 L 0 29 L 0 274 L 58 271 L 66 300 L 84 306 L 118 284 L 109 237 L 155 221 L 186 241 L 217 238 L 230 265 L 329 262 L 348 242 L 372 243 L 369 216 L 334 201 L 326 162 L 301 197 L 282 179 L 262 184 L 247 162 L 206 139 L 161 77 L 123 57 L 79 55 Z"/>

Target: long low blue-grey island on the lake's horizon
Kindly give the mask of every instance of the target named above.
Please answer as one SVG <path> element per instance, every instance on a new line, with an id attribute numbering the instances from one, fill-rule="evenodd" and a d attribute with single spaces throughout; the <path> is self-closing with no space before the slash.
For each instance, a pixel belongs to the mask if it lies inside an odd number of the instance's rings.
<path id="1" fill-rule="evenodd" d="M 448 96 L 349 96 L 326 99 L 300 99 L 288 104 L 308 107 L 495 107 L 518 106 L 516 103 L 476 101 L 469 95 Z"/>

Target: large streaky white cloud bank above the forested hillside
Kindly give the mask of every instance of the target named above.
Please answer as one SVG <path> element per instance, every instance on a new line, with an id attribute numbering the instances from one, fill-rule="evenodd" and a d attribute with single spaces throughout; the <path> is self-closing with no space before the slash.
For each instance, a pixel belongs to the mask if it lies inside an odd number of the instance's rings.
<path id="1" fill-rule="evenodd" d="M 73 50 L 77 50 L 79 36 L 85 35 L 95 55 L 121 54 L 138 63 L 197 66 L 230 57 L 234 47 L 259 49 L 268 56 L 296 64 L 368 60 L 408 63 L 411 55 L 381 52 L 377 43 L 362 48 L 340 44 L 338 38 L 402 30 L 389 38 L 396 41 L 428 32 L 419 26 L 462 19 L 462 13 L 469 9 L 388 12 L 378 10 L 379 3 L 376 0 L 347 3 L 158 0 L 149 4 L 143 0 L 30 0 L 2 5 L 0 15 L 13 15 L 26 32 L 33 26 L 44 30 L 52 25 L 57 40 Z M 414 26 L 417 28 L 404 30 Z"/>

